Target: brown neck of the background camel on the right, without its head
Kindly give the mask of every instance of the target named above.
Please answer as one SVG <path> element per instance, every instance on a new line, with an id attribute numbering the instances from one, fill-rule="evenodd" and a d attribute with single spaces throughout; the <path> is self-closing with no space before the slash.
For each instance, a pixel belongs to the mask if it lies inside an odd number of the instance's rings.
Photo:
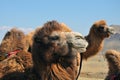
<path id="1" fill-rule="evenodd" d="M 103 48 L 103 38 L 95 35 L 88 35 L 85 37 L 88 41 L 87 51 L 83 53 L 83 59 L 87 59 L 96 55 Z"/>

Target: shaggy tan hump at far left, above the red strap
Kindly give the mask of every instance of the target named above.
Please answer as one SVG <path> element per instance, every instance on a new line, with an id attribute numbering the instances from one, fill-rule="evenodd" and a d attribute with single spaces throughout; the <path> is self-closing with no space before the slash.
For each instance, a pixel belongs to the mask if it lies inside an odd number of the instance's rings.
<path id="1" fill-rule="evenodd" d="M 25 35 L 21 30 L 12 28 L 8 31 L 0 44 L 0 60 L 5 59 L 9 52 L 23 50 L 25 47 Z"/>

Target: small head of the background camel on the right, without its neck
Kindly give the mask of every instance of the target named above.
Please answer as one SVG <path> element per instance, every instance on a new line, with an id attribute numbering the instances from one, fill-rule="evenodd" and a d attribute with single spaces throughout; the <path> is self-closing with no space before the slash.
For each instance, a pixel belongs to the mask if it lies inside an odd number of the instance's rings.
<path id="1" fill-rule="evenodd" d="M 111 34 L 114 34 L 114 29 L 109 27 L 105 20 L 100 20 L 92 25 L 90 34 L 94 34 L 102 38 L 107 38 Z"/>

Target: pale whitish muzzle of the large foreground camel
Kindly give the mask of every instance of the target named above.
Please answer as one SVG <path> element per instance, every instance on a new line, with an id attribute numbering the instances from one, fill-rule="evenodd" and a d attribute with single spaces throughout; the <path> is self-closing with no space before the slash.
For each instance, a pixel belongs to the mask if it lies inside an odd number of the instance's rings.
<path id="1" fill-rule="evenodd" d="M 82 34 L 78 32 L 67 32 L 66 38 L 68 44 L 76 49 L 78 52 L 85 52 L 88 46 L 88 42 L 82 36 Z"/>

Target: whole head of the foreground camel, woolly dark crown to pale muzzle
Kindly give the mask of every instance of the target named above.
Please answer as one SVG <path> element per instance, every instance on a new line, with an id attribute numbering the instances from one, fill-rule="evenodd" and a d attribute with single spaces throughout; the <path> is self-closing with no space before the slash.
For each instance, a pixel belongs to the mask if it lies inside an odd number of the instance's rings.
<path id="1" fill-rule="evenodd" d="M 35 58 L 39 56 L 42 57 L 41 59 L 50 61 L 55 59 L 53 57 L 67 55 L 70 48 L 84 52 L 87 45 L 88 43 L 81 34 L 64 32 L 58 22 L 50 21 L 44 24 L 41 29 L 36 30 L 32 47 L 33 59 L 34 56 Z"/>

